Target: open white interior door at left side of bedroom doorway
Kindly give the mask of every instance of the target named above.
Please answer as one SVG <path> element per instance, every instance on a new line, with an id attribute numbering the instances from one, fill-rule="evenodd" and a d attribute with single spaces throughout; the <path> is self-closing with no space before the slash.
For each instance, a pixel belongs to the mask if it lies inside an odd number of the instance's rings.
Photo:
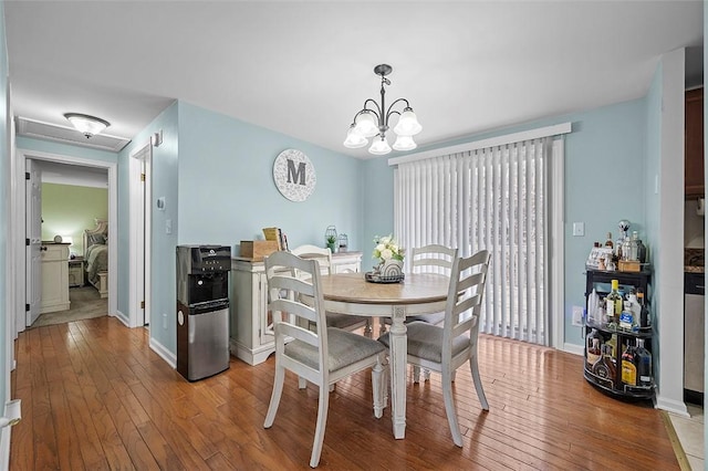
<path id="1" fill-rule="evenodd" d="M 27 217 L 27 326 L 40 316 L 42 304 L 42 170 L 25 160 Z"/>

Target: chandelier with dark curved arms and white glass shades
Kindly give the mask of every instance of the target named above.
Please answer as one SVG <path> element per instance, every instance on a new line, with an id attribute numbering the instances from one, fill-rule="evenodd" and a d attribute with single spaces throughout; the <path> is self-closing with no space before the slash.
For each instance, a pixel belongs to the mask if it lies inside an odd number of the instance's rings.
<path id="1" fill-rule="evenodd" d="M 396 150 L 413 150 L 417 147 L 413 136 L 423 130 L 423 126 L 418 123 L 416 114 L 408 104 L 406 98 L 398 98 L 386 108 L 384 85 L 391 85 L 391 81 L 386 78 L 393 71 L 388 64 L 379 64 L 374 67 L 374 73 L 381 75 L 381 105 L 375 100 L 368 98 L 364 102 L 364 108 L 354 115 L 354 122 L 346 133 L 344 147 L 357 149 L 368 145 L 368 138 L 373 137 L 372 146 L 368 151 L 374 155 L 383 156 L 391 151 L 388 140 L 386 140 L 386 132 L 388 123 L 393 115 L 398 115 L 398 123 L 394 127 L 396 133 L 396 142 L 393 148 Z M 403 106 L 403 112 L 394 109 L 396 105 Z M 371 105 L 371 106 L 369 106 Z M 398 106 L 398 107 L 402 107 Z"/>

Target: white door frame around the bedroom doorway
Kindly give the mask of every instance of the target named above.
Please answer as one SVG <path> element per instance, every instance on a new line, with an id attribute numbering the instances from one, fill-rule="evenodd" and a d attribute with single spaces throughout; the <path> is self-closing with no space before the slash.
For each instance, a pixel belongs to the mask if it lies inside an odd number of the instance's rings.
<path id="1" fill-rule="evenodd" d="M 118 185 L 117 185 L 117 163 L 92 160 L 81 157 L 74 157 L 64 154 L 44 153 L 40 150 L 15 149 L 15 163 L 13 191 L 13 216 L 12 221 L 12 252 L 17 254 L 14 259 L 14 278 L 15 286 L 25 286 L 25 261 L 24 261 L 24 218 L 27 212 L 27 198 L 24 191 L 24 161 L 25 159 L 54 161 L 60 164 L 80 165 L 84 167 L 97 167 L 108 170 L 108 240 L 114 241 L 108 244 L 108 315 L 115 316 L 117 313 L 117 291 L 118 291 Z M 21 164 L 21 165 L 20 165 Z M 24 292 L 24 290 L 22 290 Z M 12 324 L 15 332 L 23 332 L 24 326 L 24 304 L 25 295 L 18 295 L 14 300 L 15 308 L 10 311 L 10 315 L 14 316 Z M 121 318 L 121 316 L 118 316 Z"/>

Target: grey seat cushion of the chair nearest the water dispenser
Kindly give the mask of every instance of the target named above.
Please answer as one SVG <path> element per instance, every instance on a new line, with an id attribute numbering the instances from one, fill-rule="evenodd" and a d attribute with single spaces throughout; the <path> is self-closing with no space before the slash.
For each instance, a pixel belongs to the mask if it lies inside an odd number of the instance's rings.
<path id="1" fill-rule="evenodd" d="M 336 371 L 356 362 L 386 350 L 379 342 L 352 332 L 327 327 L 330 371 Z M 317 348 L 302 341 L 285 345 L 285 355 L 319 369 Z"/>

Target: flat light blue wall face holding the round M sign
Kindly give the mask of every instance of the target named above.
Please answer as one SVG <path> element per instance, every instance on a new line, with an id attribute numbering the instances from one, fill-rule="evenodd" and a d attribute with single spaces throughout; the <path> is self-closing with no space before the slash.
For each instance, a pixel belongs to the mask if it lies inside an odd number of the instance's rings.
<path id="1" fill-rule="evenodd" d="M 302 202 L 285 199 L 273 182 L 273 161 L 302 150 L 316 187 Z M 361 248 L 364 205 L 362 161 L 232 117 L 179 103 L 179 243 L 239 244 L 277 226 L 291 247 L 324 245 L 334 224 Z"/>

